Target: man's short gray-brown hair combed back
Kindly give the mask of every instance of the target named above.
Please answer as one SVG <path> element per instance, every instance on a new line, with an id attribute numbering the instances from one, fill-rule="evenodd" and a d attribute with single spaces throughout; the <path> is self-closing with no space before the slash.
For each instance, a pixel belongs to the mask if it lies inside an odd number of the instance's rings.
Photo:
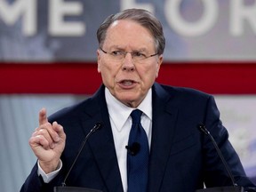
<path id="1" fill-rule="evenodd" d="M 97 38 L 100 46 L 104 44 L 109 26 L 116 20 L 133 20 L 142 27 L 148 28 L 148 31 L 155 38 L 156 52 L 158 55 L 164 53 L 165 38 L 162 24 L 151 12 L 143 9 L 126 9 L 123 12 L 117 12 L 115 15 L 109 15 L 97 30 Z"/>

